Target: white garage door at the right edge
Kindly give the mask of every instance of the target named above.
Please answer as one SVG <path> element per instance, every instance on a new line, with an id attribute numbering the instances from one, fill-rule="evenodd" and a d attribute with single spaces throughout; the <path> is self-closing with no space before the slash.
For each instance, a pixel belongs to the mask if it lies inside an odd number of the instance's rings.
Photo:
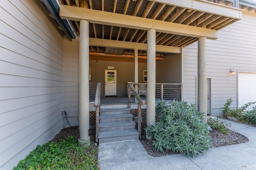
<path id="1" fill-rule="evenodd" d="M 238 73 L 238 101 L 239 107 L 256 101 L 255 73 Z"/>

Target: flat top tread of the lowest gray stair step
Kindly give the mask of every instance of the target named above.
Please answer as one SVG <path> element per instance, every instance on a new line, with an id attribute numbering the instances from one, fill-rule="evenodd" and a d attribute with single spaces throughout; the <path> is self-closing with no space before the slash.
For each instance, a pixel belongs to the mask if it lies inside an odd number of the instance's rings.
<path id="1" fill-rule="evenodd" d="M 136 129 L 126 129 L 120 131 L 107 131 L 107 132 L 100 132 L 100 138 L 108 138 L 108 137 L 120 137 L 120 136 L 128 136 L 128 135 L 138 135 L 138 131 Z"/>

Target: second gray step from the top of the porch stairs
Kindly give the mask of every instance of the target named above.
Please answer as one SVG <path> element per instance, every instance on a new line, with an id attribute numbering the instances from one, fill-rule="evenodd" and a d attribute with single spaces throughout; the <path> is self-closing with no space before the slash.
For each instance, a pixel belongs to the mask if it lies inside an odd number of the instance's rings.
<path id="1" fill-rule="evenodd" d="M 132 114 L 119 115 L 100 115 L 100 123 L 116 122 L 116 121 L 132 121 Z"/>

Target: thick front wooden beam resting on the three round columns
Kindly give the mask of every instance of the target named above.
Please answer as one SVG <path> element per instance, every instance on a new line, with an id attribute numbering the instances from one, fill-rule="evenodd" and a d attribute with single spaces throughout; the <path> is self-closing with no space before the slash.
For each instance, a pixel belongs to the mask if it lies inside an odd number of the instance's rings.
<path id="1" fill-rule="evenodd" d="M 157 32 L 184 35 L 188 37 L 206 37 L 208 39 L 218 38 L 218 31 L 212 29 L 116 14 L 112 12 L 78 8 L 74 6 L 60 5 L 60 17 L 65 20 L 87 20 L 90 23 L 113 25 L 118 27 L 142 30 L 156 29 Z"/>

